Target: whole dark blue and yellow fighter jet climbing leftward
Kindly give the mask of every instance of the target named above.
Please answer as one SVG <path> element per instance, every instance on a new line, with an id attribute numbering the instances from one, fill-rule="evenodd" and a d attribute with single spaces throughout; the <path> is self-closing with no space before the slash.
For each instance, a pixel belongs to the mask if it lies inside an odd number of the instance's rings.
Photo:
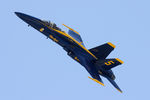
<path id="1" fill-rule="evenodd" d="M 40 20 L 38 18 L 15 12 L 15 14 L 25 21 L 29 26 L 32 26 L 39 32 L 43 33 L 47 38 L 63 47 L 67 54 L 89 72 L 92 76 L 91 80 L 104 86 L 100 75 L 107 78 L 110 83 L 120 92 L 121 89 L 116 84 L 115 75 L 111 70 L 113 67 L 123 63 L 118 58 L 106 59 L 106 57 L 114 50 L 115 45 L 108 42 L 92 49 L 86 49 L 81 39 L 80 34 L 72 28 L 64 25 L 69 29 L 68 33 L 62 31 L 55 23 L 50 21 Z"/>

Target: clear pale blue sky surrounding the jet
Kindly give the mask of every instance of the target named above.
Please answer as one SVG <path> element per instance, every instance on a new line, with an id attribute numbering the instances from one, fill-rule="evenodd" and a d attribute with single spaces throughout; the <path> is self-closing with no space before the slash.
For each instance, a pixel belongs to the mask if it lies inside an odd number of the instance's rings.
<path id="1" fill-rule="evenodd" d="M 149 100 L 149 0 L 2 0 L 0 3 L 0 100 Z M 78 31 L 90 49 L 116 45 L 109 58 L 121 94 L 105 87 L 56 43 L 27 27 L 14 12 L 51 20 Z"/>

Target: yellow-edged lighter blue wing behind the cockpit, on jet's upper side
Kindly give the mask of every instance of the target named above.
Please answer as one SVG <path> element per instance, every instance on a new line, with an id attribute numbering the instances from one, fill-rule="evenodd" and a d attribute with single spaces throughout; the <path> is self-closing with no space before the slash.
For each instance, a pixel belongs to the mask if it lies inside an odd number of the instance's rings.
<path id="1" fill-rule="evenodd" d="M 68 34 L 69 34 L 71 37 L 73 37 L 76 41 L 78 41 L 81 45 L 84 46 L 80 34 L 79 34 L 77 31 L 73 30 L 72 28 L 68 27 L 67 25 L 65 25 L 65 24 L 63 24 L 63 25 L 69 29 Z M 85 46 L 84 46 L 84 47 L 85 47 Z"/>

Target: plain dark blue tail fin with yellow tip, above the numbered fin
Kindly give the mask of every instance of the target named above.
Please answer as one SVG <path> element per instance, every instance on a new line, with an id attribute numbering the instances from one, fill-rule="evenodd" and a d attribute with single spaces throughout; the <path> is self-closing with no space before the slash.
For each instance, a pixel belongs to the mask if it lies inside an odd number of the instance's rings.
<path id="1" fill-rule="evenodd" d="M 92 48 L 89 51 L 93 53 L 98 59 L 105 59 L 114 50 L 114 48 L 115 45 L 113 45 L 111 42 L 108 42 Z"/>

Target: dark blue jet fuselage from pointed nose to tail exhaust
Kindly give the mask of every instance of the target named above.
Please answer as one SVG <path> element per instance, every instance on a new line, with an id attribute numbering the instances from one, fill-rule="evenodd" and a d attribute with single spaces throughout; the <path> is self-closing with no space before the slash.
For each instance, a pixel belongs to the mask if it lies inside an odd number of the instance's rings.
<path id="1" fill-rule="evenodd" d="M 18 12 L 16 12 L 16 15 L 23 21 L 25 21 L 29 26 L 32 26 L 39 32 L 43 33 L 47 38 L 60 45 L 71 58 L 85 67 L 85 69 L 94 78 L 91 78 L 92 80 L 103 85 L 103 82 L 99 75 L 112 80 L 115 79 L 115 76 L 111 69 L 106 70 L 105 68 L 100 67 L 96 63 L 98 58 L 66 32 L 61 31 L 57 27 L 51 27 L 49 24 L 47 24 L 48 22 L 45 22 L 38 18 Z"/>

